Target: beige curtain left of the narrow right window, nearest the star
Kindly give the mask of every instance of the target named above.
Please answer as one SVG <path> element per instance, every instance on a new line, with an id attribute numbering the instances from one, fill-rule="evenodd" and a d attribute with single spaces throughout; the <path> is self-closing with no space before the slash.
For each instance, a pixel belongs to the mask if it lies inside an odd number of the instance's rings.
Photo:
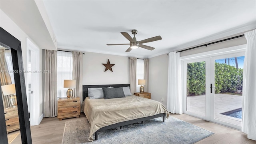
<path id="1" fill-rule="evenodd" d="M 136 66 L 137 58 L 130 58 L 130 90 L 134 94 L 136 92 Z"/>

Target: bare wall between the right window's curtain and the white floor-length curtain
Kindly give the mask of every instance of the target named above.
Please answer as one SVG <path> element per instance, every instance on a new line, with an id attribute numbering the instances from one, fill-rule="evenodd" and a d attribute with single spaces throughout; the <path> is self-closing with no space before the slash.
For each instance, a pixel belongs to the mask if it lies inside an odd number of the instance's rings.
<path id="1" fill-rule="evenodd" d="M 149 60 L 149 92 L 151 99 L 167 106 L 168 56 L 163 54 Z M 163 98 L 163 101 L 161 101 Z"/>

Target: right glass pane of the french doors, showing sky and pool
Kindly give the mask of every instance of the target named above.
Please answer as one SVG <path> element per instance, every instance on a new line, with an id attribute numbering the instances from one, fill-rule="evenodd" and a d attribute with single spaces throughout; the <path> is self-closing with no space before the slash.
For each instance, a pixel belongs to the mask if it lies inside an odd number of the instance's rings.
<path id="1" fill-rule="evenodd" d="M 244 56 L 215 60 L 214 118 L 241 126 Z"/>

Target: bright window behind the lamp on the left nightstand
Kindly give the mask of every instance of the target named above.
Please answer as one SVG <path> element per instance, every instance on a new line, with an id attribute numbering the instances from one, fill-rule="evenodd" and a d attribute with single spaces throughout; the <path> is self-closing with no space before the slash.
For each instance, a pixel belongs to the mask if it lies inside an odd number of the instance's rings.
<path id="1" fill-rule="evenodd" d="M 57 51 L 57 97 L 66 97 L 64 80 L 72 80 L 73 58 L 71 52 Z"/>

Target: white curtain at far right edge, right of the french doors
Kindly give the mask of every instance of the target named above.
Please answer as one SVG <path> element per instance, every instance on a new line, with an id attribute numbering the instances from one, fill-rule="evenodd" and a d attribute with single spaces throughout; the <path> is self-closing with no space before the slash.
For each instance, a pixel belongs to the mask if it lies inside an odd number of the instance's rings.
<path id="1" fill-rule="evenodd" d="M 256 30 L 244 34 L 247 46 L 244 56 L 242 132 L 256 140 Z"/>

